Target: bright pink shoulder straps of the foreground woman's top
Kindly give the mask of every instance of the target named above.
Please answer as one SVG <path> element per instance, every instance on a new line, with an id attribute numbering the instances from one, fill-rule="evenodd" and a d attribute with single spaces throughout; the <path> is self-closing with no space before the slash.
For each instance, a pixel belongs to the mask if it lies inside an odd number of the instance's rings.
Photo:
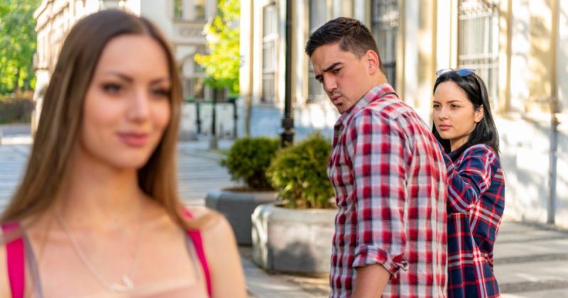
<path id="1" fill-rule="evenodd" d="M 192 215 L 189 211 L 187 211 L 187 209 L 185 209 L 184 214 L 185 216 L 192 218 Z M 4 233 L 8 233 L 20 228 L 20 223 L 4 223 L 1 225 L 1 228 Z M 187 231 L 187 236 L 191 238 L 193 246 L 195 247 L 195 254 L 201 263 L 205 275 L 205 281 L 207 282 L 207 293 L 209 294 L 209 297 L 211 297 L 211 276 L 209 274 L 207 260 L 205 259 L 201 233 L 197 230 Z M 12 298 L 23 298 L 24 290 L 26 289 L 26 245 L 24 244 L 23 236 L 6 243 L 6 267 L 8 269 Z M 35 261 L 31 263 L 35 266 Z M 38 279 L 37 276 L 35 276 L 35 278 Z M 38 282 L 38 280 L 36 280 L 36 282 Z M 38 287 L 36 287 L 36 291 L 37 290 Z M 38 294 L 38 297 L 41 297 L 41 293 L 39 292 Z"/>

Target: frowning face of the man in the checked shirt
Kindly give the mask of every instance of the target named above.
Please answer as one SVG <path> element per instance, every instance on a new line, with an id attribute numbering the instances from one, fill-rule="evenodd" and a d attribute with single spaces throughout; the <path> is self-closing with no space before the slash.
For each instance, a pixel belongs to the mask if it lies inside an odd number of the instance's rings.
<path id="1" fill-rule="evenodd" d="M 367 55 L 358 59 L 344 52 L 339 43 L 322 45 L 312 53 L 315 78 L 323 84 L 333 105 L 344 114 L 373 86 Z"/>

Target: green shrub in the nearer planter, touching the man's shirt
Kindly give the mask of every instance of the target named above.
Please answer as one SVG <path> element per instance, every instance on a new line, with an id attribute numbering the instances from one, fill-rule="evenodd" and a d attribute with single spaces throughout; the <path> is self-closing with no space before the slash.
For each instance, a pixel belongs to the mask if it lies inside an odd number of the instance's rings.
<path id="1" fill-rule="evenodd" d="M 331 140 L 313 133 L 276 155 L 266 174 L 279 190 L 285 206 L 296 209 L 333 206 L 329 199 L 334 197 L 334 189 L 327 177 L 331 151 Z"/>

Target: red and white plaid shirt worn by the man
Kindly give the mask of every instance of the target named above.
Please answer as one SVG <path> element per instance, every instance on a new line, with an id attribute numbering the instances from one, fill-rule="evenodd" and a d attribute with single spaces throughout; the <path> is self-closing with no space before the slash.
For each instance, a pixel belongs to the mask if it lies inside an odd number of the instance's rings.
<path id="1" fill-rule="evenodd" d="M 339 118 L 327 173 L 339 207 L 329 297 L 351 297 L 356 267 L 372 264 L 391 272 L 384 298 L 446 297 L 444 158 L 390 85 Z"/>

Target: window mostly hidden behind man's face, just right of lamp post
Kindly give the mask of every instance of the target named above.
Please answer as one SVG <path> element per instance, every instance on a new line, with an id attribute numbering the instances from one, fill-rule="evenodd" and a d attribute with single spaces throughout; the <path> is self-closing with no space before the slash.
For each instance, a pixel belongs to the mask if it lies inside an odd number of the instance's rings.
<path id="1" fill-rule="evenodd" d="M 327 22 L 327 0 L 310 0 L 310 35 Z M 323 85 L 315 79 L 312 63 L 307 69 L 306 104 L 320 104 L 325 101 Z"/>

